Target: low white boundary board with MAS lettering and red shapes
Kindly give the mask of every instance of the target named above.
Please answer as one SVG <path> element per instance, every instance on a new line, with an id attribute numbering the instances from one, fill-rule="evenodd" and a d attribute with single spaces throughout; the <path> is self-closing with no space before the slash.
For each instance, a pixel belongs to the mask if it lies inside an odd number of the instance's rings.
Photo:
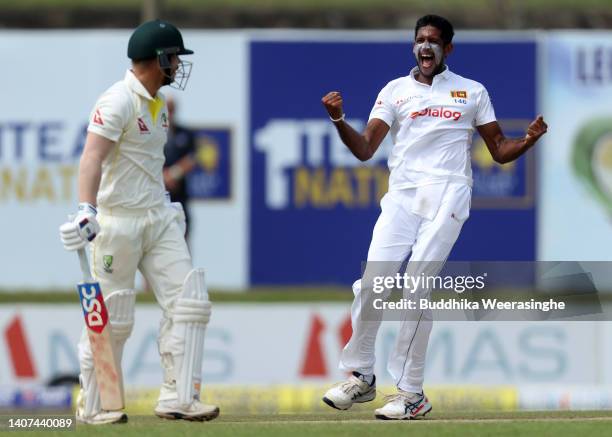
<path id="1" fill-rule="evenodd" d="M 157 387 L 161 381 L 160 315 L 154 305 L 137 309 L 123 359 L 127 386 Z M 76 304 L 0 306 L 0 386 L 77 373 L 82 326 Z M 379 332 L 376 373 L 382 385 L 393 385 L 385 367 L 396 328 L 397 323 L 385 322 Z M 343 304 L 214 305 L 203 380 L 223 385 L 341 380 L 337 363 L 350 332 L 349 308 Z M 426 384 L 612 384 L 610 341 L 608 322 L 437 322 Z"/>

